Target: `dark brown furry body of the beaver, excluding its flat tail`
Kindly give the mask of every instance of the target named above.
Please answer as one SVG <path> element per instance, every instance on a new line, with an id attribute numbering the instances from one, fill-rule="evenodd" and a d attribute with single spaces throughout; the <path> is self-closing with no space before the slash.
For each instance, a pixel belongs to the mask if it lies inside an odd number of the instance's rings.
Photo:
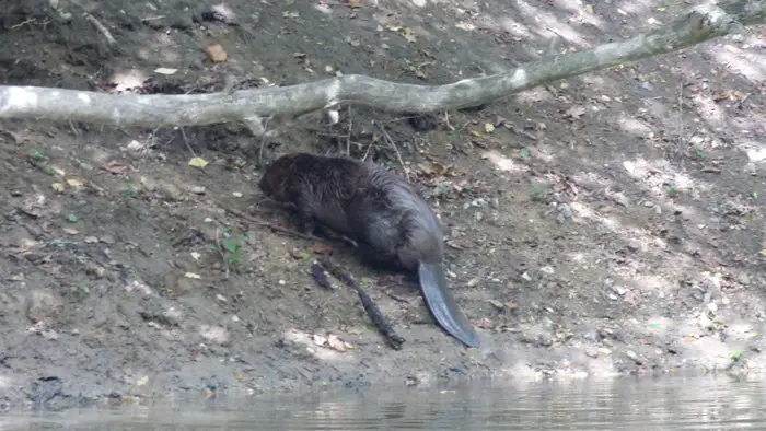
<path id="1" fill-rule="evenodd" d="M 431 208 L 406 179 L 373 164 L 288 154 L 266 170 L 259 187 L 409 269 L 441 261 L 442 232 Z"/>

